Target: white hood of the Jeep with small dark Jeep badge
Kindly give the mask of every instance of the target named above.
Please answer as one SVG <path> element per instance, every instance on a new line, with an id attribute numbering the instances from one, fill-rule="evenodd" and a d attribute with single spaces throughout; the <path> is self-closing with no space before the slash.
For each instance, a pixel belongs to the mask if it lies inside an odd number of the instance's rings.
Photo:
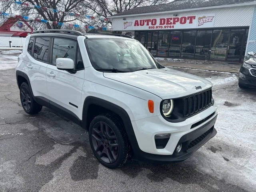
<path id="1" fill-rule="evenodd" d="M 204 78 L 169 68 L 104 73 L 104 77 L 151 92 L 162 99 L 178 98 L 212 87 L 212 83 Z M 199 86 L 202 89 L 196 89 Z"/>

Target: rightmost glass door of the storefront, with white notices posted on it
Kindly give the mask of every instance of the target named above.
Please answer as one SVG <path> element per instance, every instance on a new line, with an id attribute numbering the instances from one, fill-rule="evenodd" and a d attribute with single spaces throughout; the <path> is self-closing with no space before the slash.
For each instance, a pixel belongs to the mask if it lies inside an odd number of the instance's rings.
<path id="1" fill-rule="evenodd" d="M 228 46 L 227 61 L 240 62 L 245 41 L 245 29 L 232 29 Z"/>

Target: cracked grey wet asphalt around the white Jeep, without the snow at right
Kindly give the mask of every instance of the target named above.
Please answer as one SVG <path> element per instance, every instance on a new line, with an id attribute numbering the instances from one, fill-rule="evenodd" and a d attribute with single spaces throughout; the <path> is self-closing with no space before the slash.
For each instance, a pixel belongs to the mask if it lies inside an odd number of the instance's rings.
<path id="1" fill-rule="evenodd" d="M 183 71 L 202 77 L 228 76 Z M 207 159 L 205 151 L 213 156 L 218 150 L 214 140 L 210 140 L 193 158 L 181 163 L 132 161 L 123 168 L 110 170 L 94 158 L 83 128 L 45 107 L 37 115 L 26 114 L 20 105 L 15 70 L 0 70 L 0 192 L 256 191 L 242 182 L 232 183 L 228 176 L 198 169 L 194 159 Z M 226 159 L 222 163 L 228 163 Z M 205 166 L 214 170 L 218 165 Z"/>

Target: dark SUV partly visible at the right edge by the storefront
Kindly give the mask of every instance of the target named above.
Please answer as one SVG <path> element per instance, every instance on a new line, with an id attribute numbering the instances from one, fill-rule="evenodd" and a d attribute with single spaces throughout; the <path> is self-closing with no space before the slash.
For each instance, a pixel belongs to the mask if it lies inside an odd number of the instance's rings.
<path id="1" fill-rule="evenodd" d="M 256 88 L 256 53 L 248 53 L 248 55 L 252 57 L 244 62 L 239 72 L 238 85 L 240 88 Z"/>

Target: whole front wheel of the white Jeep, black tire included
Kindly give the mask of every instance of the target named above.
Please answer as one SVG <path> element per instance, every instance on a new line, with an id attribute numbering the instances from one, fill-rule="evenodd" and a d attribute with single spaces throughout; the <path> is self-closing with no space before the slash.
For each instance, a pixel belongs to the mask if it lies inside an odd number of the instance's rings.
<path id="1" fill-rule="evenodd" d="M 89 127 L 94 156 L 111 169 L 123 166 L 128 158 L 128 138 L 124 126 L 112 114 L 96 116 Z"/>

